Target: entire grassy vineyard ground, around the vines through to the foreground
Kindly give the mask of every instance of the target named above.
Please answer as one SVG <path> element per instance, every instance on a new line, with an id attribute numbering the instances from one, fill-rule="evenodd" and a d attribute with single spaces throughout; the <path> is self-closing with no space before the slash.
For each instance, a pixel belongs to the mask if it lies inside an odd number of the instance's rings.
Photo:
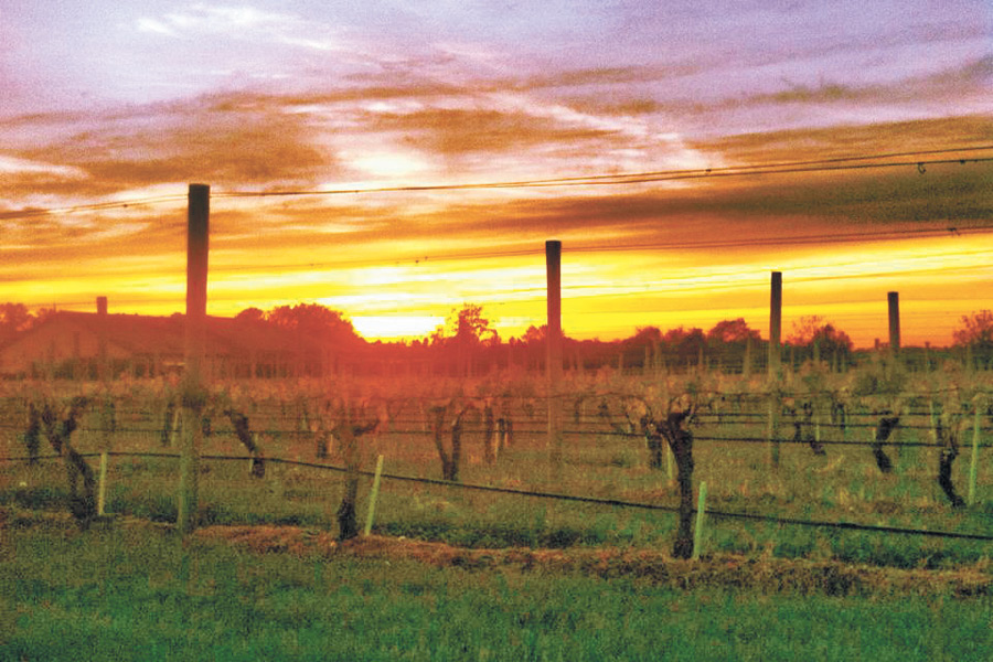
<path id="1" fill-rule="evenodd" d="M 621 387 L 650 388 L 607 385 Z M 87 415 L 73 435 L 75 447 L 174 452 L 161 445 L 161 385 L 116 388 L 122 391 L 115 431 L 105 434 L 99 417 Z M 266 457 L 342 463 L 337 447 L 330 457 L 316 458 L 313 434 L 300 431 L 295 385 L 261 388 L 265 393 L 248 398 L 243 394 L 241 406 Z M 617 435 L 589 413 L 566 424 L 563 462 L 553 471 L 541 403 L 516 401 L 515 441 L 492 465 L 484 458 L 481 423 L 470 418 L 460 479 L 677 503 L 665 468 L 648 467 L 643 437 Z M 0 456 L 24 455 L 23 413 L 15 401 L 0 418 Z M 903 446 L 887 447 L 894 471 L 882 473 L 872 450 L 853 445 L 829 444 L 826 455 L 815 456 L 805 445 L 783 444 L 773 468 L 765 442 L 708 440 L 764 438 L 768 421 L 761 409 L 719 423 L 712 412 L 693 428 L 694 483 L 707 482 L 711 511 L 989 535 L 990 450 L 981 449 L 975 504 L 952 508 L 937 483 L 939 449 L 912 446 L 932 440 L 929 420 L 918 402 L 903 419 L 897 439 Z M 866 427 L 825 425 L 821 439 L 868 440 L 874 420 L 851 421 Z M 223 418 L 215 417 L 212 429 L 204 455 L 245 453 Z M 360 439 L 362 467 L 372 469 L 383 455 L 387 472 L 440 478 L 437 450 L 425 433 L 418 407 L 396 413 L 377 434 Z M 778 436 L 791 438 L 788 421 Z M 960 444 L 952 480 L 964 492 L 968 440 Z M 96 459 L 89 462 L 96 469 Z M 334 537 L 342 473 L 269 462 L 265 478 L 257 479 L 247 465 L 202 462 L 202 526 L 248 525 L 259 532 L 248 536 L 282 526 L 307 541 Z M 0 466 L 0 515 L 7 519 L 0 527 L 0 660 L 906 662 L 987 659 L 993 650 L 989 542 L 708 515 L 703 559 L 691 568 L 696 579 L 684 581 L 669 569 L 677 567 L 666 556 L 675 534 L 672 512 L 386 480 L 374 533 L 472 548 L 482 556 L 459 553 L 438 563 L 342 547 L 329 553 L 269 545 L 250 552 L 223 536 L 181 542 L 170 531 L 177 481 L 175 459 L 111 458 L 107 511 L 115 517 L 81 532 L 65 515 L 68 483 L 61 460 Z M 369 487 L 364 478 L 360 517 Z M 606 572 L 588 559 L 534 567 L 494 563 L 499 554 L 490 549 L 506 548 L 602 554 L 613 560 Z M 659 567 L 639 565 L 645 555 L 654 555 Z M 799 583 L 783 581 L 787 572 L 800 573 Z M 899 581 L 865 579 L 879 572 L 925 574 L 911 583 L 917 588 L 896 590 Z M 942 588 L 939 579 L 949 573 L 965 573 L 972 583 L 967 585 L 979 588 Z M 839 574 L 862 577 L 868 588 L 854 590 Z M 707 579 L 712 576 L 720 579 Z M 688 586 L 692 590 L 681 588 Z"/>

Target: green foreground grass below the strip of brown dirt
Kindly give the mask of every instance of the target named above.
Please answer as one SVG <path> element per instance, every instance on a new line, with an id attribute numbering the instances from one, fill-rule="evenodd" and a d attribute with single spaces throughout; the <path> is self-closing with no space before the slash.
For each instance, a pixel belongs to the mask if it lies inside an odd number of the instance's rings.
<path id="1" fill-rule="evenodd" d="M 674 591 L 647 580 L 241 552 L 153 528 L 7 528 L 0 660 L 980 660 L 990 598 Z"/>

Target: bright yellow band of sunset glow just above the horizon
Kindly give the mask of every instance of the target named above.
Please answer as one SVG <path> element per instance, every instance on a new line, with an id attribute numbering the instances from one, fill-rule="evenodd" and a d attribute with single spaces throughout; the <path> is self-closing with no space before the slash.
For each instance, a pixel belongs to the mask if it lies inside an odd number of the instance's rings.
<path id="1" fill-rule="evenodd" d="M 541 247 L 537 239 L 535 245 Z M 899 291 L 905 343 L 946 345 L 963 314 L 993 308 L 993 298 L 980 289 L 989 281 L 985 256 L 993 252 L 993 235 L 735 254 L 570 252 L 570 245 L 563 244 L 563 328 L 577 340 L 629 338 L 639 327 L 706 331 L 737 318 L 767 338 L 772 270 L 783 274 L 784 334 L 794 319 L 819 314 L 856 346 L 872 346 L 886 337 L 886 293 Z M 430 242 L 423 246 L 431 253 Z M 538 249 L 496 253 L 375 266 L 356 260 L 361 253 L 351 250 L 335 268 L 338 252 L 325 264 L 286 270 L 271 254 L 270 266 L 243 271 L 227 268 L 222 250 L 209 278 L 209 312 L 233 317 L 249 307 L 316 302 L 341 311 L 369 340 L 409 341 L 429 337 L 453 310 L 472 303 L 483 307 L 502 339 L 520 338 L 527 327 L 545 323 L 544 256 Z M 89 301 L 108 296 L 115 312 L 171 314 L 183 310 L 181 274 L 160 269 L 154 276 L 145 268 L 170 261 L 179 266 L 181 256 L 116 260 L 111 269 L 87 278 L 38 270 L 34 280 L 11 282 L 8 297 L 35 309 L 93 310 Z M 51 297 L 55 290 L 57 300 Z"/>

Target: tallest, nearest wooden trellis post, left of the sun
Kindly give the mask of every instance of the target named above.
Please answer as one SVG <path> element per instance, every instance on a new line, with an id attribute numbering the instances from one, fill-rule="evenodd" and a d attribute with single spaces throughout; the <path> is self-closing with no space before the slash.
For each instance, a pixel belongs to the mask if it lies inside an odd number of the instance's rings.
<path id="1" fill-rule="evenodd" d="M 183 437 L 180 448 L 180 489 L 177 527 L 192 533 L 196 527 L 202 412 L 204 335 L 206 329 L 206 279 L 211 188 L 190 184 L 186 229 L 186 320 L 183 373 Z"/>

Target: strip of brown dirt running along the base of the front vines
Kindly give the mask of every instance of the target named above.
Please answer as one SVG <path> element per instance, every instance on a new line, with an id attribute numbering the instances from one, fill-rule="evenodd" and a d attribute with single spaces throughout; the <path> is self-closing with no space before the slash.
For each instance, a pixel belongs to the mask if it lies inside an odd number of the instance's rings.
<path id="1" fill-rule="evenodd" d="M 683 590 L 724 587 L 768 594 L 858 597 L 993 595 L 993 573 L 990 567 L 979 565 L 954 570 L 908 570 L 830 560 L 734 555 L 694 562 L 650 549 L 473 549 L 375 535 L 340 544 L 328 533 L 292 526 L 210 526 L 199 530 L 195 535 L 205 541 L 228 541 L 257 553 L 409 559 L 438 567 L 478 570 L 511 568 L 602 578 L 638 577 Z"/>

